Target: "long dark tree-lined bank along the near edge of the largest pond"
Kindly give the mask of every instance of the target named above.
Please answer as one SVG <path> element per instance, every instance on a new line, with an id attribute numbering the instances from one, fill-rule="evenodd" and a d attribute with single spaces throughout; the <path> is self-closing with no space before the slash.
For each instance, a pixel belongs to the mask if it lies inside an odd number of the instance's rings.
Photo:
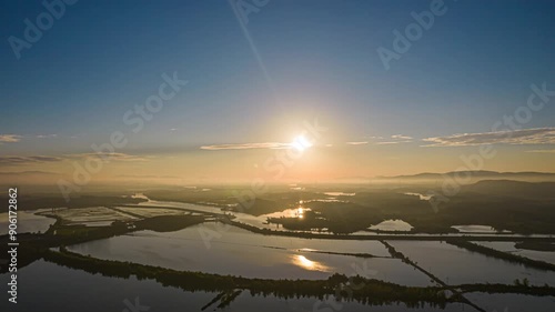
<path id="1" fill-rule="evenodd" d="M 251 295 L 275 295 L 283 299 L 314 296 L 324 299 L 334 295 L 349 281 L 343 274 L 334 274 L 327 280 L 265 280 L 246 279 L 232 275 L 218 275 L 202 272 L 185 272 L 171 269 L 143 265 L 131 262 L 100 260 L 61 249 L 61 252 L 46 251 L 43 259 L 58 265 L 83 270 L 93 274 L 128 279 L 135 275 L 139 280 L 149 279 L 164 286 L 174 286 L 184 291 L 234 292 L 249 290 Z M 443 288 L 403 286 L 361 276 L 352 278 L 357 285 L 352 299 L 364 304 L 391 304 L 403 302 L 407 306 L 421 306 L 430 303 L 445 308 L 450 302 L 461 302 L 456 298 L 448 299 Z"/>

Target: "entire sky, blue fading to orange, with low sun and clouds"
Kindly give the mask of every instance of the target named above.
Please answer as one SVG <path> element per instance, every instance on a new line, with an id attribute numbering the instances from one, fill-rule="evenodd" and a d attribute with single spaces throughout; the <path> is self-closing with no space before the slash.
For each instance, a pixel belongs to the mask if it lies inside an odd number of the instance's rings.
<path id="1" fill-rule="evenodd" d="M 44 3 L 0 4 L 0 173 L 555 172 L 554 1 Z"/>

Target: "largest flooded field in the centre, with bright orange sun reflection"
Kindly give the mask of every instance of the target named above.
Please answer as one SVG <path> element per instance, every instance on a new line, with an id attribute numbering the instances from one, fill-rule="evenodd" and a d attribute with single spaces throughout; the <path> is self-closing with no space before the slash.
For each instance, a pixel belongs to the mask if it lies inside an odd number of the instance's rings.
<path id="1" fill-rule="evenodd" d="M 213 238 L 208 240 L 209 235 Z M 265 236 L 236 228 L 229 228 L 218 236 L 213 228 L 196 225 L 171 233 L 141 231 L 72 245 L 69 250 L 100 259 L 249 278 L 315 280 L 344 273 L 405 285 L 431 284 L 423 273 L 390 258 L 377 241 Z M 374 258 L 336 253 L 365 253 Z"/>

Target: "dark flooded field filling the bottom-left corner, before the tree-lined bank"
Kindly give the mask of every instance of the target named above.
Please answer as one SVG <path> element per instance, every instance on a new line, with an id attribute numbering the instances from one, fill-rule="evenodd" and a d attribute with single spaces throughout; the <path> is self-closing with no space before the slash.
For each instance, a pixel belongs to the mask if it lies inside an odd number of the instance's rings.
<path id="1" fill-rule="evenodd" d="M 17 311 L 37 311 L 37 306 L 40 311 L 58 312 L 130 311 L 125 300 L 134 304 L 135 298 L 152 311 L 201 311 L 201 306 L 218 294 L 183 292 L 135 278 L 93 275 L 42 260 L 19 270 L 18 278 L 20 298 Z M 0 275 L 0 280 L 6 285 L 8 274 Z M 0 311 L 12 309 L 13 304 L 8 300 L 0 301 Z"/>

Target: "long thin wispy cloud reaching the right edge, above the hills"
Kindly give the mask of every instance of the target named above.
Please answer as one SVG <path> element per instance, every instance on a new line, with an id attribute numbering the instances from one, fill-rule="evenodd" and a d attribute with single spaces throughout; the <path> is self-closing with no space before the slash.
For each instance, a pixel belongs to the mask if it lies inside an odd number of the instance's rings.
<path id="1" fill-rule="evenodd" d="M 466 147 L 482 144 L 555 144 L 555 128 L 522 129 L 514 131 L 460 133 L 423 139 L 425 147 Z"/>

